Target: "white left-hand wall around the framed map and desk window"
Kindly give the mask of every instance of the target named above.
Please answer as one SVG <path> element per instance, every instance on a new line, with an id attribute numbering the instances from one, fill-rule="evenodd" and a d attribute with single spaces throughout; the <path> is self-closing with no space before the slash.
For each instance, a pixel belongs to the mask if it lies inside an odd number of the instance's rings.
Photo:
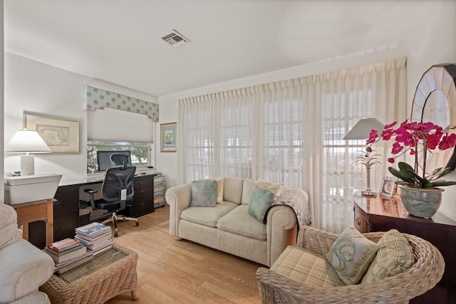
<path id="1" fill-rule="evenodd" d="M 79 120 L 78 154 L 36 154 L 35 174 L 58 173 L 62 179 L 86 175 L 87 112 L 84 110 L 84 86 L 110 90 L 157 103 L 155 96 L 106 83 L 103 80 L 55 68 L 51 65 L 5 53 L 4 142 L 23 127 L 23 113 Z M 3 149 L 2 149 L 3 150 Z M 4 172 L 19 171 L 19 155 L 5 154 Z M 3 183 L 1 183 L 3 184 Z"/>

